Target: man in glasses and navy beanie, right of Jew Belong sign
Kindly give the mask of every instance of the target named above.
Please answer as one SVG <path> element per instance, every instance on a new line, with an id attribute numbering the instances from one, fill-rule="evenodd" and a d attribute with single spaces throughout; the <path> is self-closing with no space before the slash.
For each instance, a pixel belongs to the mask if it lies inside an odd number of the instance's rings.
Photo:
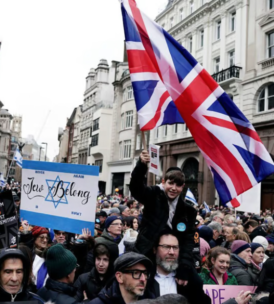
<path id="1" fill-rule="evenodd" d="M 106 219 L 105 229 L 101 236 L 95 239 L 96 244 L 103 244 L 106 246 L 119 244 L 121 241 L 122 233 L 122 220 L 116 215 L 112 215 Z"/>

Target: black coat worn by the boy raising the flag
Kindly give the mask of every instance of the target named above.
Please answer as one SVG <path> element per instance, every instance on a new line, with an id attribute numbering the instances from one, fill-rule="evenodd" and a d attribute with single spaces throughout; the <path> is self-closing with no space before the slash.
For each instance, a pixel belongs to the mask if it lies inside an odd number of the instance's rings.
<path id="1" fill-rule="evenodd" d="M 159 186 L 144 185 L 144 178 L 147 172 L 147 165 L 140 160 L 134 168 L 131 181 L 130 192 L 132 196 L 144 205 L 143 218 L 139 227 L 135 251 L 142 253 L 149 258 L 153 258 L 153 245 L 159 238 L 160 232 L 169 228 L 169 203 L 166 194 Z M 195 246 L 195 221 L 196 210 L 186 204 L 179 196 L 175 214 L 172 219 L 172 233 L 178 238 L 180 245 L 179 268 L 176 277 L 188 279 L 189 272 L 195 271 L 193 248 Z M 184 231 L 177 229 L 179 224 L 185 225 Z M 170 228 L 169 228 L 170 229 Z"/>

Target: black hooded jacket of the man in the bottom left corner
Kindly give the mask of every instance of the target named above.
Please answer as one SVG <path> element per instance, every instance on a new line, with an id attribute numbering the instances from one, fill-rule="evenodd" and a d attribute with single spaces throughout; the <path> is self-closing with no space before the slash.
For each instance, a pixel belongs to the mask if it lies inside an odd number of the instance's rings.
<path id="1" fill-rule="evenodd" d="M 29 280 L 29 269 L 30 265 L 29 262 L 25 259 L 25 256 L 23 253 L 18 249 L 3 249 L 0 253 L 0 269 L 2 266 L 2 263 L 7 258 L 20 258 L 23 262 L 23 282 L 22 282 L 22 288 L 21 290 L 16 294 L 12 295 L 8 292 L 6 292 L 1 286 L 0 286 L 0 302 L 14 302 L 14 301 L 38 301 L 38 303 L 44 303 L 45 301 L 40 298 L 38 295 L 28 291 L 27 284 Z"/>

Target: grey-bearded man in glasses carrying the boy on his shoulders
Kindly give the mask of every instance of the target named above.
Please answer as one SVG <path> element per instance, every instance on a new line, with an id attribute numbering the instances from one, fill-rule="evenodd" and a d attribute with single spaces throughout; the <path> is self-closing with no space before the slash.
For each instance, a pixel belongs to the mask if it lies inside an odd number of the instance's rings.
<path id="1" fill-rule="evenodd" d="M 210 298 L 203 290 L 203 282 L 197 274 L 190 275 L 186 286 L 177 283 L 175 277 L 179 266 L 179 241 L 175 235 L 168 233 L 168 231 L 162 231 L 161 234 L 153 250 L 156 269 L 154 269 L 147 288 L 154 293 L 156 298 L 166 294 L 179 293 L 186 297 L 190 304 L 211 303 Z"/>

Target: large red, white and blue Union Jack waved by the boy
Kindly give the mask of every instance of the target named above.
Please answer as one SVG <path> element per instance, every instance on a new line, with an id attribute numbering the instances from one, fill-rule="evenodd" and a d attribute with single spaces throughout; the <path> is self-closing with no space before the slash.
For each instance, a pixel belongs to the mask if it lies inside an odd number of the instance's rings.
<path id="1" fill-rule="evenodd" d="M 120 2 L 141 130 L 158 127 L 165 119 L 177 123 L 175 105 L 206 159 L 222 203 L 234 206 L 234 198 L 274 173 L 270 154 L 203 66 L 142 13 L 135 0 Z M 172 110 L 166 113 L 169 105 Z"/>

